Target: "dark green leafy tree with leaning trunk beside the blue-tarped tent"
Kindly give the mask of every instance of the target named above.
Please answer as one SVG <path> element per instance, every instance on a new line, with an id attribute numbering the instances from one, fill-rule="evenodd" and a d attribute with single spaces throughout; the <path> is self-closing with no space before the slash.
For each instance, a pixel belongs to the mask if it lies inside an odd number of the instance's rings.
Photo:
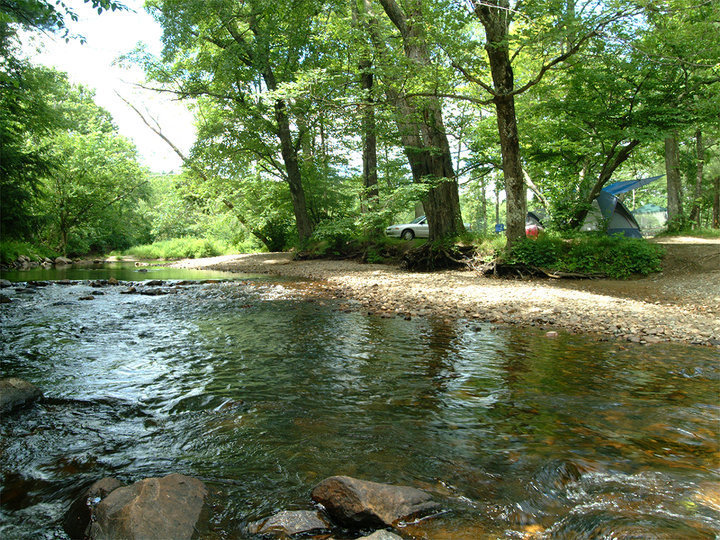
<path id="1" fill-rule="evenodd" d="M 619 31 L 615 36 L 618 37 Z M 528 95 L 525 154 L 563 229 L 579 227 L 592 201 L 638 148 L 679 116 L 656 66 L 625 40 L 596 41 Z"/>

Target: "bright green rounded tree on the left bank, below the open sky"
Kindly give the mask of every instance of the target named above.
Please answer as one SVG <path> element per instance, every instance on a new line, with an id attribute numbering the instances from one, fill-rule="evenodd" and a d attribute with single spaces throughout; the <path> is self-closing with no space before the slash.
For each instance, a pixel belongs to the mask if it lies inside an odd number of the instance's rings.
<path id="1" fill-rule="evenodd" d="M 136 204 L 147 196 L 147 173 L 93 92 L 61 74 L 55 82 L 47 99 L 64 129 L 38 140 L 54 164 L 36 205 L 45 239 L 60 251 L 127 247 L 143 229 Z M 72 247 L 71 234 L 84 241 Z"/>

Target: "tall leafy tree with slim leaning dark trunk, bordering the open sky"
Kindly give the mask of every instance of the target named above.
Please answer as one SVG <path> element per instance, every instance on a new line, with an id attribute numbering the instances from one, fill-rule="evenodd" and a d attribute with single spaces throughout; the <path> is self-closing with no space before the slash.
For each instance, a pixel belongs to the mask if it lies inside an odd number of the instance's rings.
<path id="1" fill-rule="evenodd" d="M 224 144 L 245 161 L 252 156 L 262 162 L 286 182 L 297 234 L 301 240 L 309 238 L 315 223 L 301 155 L 308 102 L 299 94 L 307 94 L 313 83 L 304 68 L 313 67 L 317 43 L 312 36 L 323 6 L 266 0 L 150 5 L 163 25 L 165 43 L 165 63 L 151 68 L 151 74 L 178 84 L 181 95 L 217 105 L 206 132 L 234 124 Z"/>

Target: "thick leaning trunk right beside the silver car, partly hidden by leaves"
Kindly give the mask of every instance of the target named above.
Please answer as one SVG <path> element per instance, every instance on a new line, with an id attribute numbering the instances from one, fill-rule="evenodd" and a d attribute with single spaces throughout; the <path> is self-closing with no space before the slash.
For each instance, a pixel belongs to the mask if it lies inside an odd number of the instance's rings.
<path id="1" fill-rule="evenodd" d="M 380 4 L 400 31 L 405 56 L 418 67 L 432 65 L 422 27 L 422 2 L 406 1 L 406 11 L 395 0 L 380 0 Z M 366 1 L 368 14 L 369 8 L 369 2 Z M 380 48 L 377 24 L 373 24 L 372 20 L 370 34 L 376 48 Z M 463 232 L 465 227 L 460 213 L 458 183 L 440 100 L 428 97 L 413 102 L 395 89 L 389 91 L 389 97 L 398 110 L 398 126 L 413 179 L 430 186 L 422 201 L 430 227 L 430 240 Z"/>

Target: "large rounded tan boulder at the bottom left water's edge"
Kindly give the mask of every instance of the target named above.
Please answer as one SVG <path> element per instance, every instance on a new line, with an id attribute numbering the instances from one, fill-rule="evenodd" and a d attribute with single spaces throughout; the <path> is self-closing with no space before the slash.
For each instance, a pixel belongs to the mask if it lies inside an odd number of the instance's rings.
<path id="1" fill-rule="evenodd" d="M 97 505 L 88 537 L 189 540 L 206 495 L 205 484 L 189 476 L 146 478 L 114 490 Z"/>

